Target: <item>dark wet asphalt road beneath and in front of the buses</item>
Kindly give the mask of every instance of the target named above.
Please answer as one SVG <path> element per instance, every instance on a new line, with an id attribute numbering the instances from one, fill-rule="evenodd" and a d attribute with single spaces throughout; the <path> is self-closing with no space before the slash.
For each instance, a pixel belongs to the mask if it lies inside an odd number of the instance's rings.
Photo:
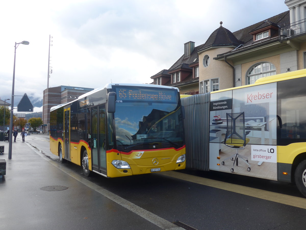
<path id="1" fill-rule="evenodd" d="M 27 142 L 42 155 L 58 163 L 50 153 L 48 136 L 32 134 Z M 95 174 L 87 178 L 79 166 L 65 163 L 65 167 L 88 181 L 116 194 L 135 205 L 170 222 L 181 221 L 195 229 L 304 229 L 306 210 L 279 202 L 251 197 L 173 178 L 164 174 L 147 174 L 122 178 L 104 178 Z M 291 184 L 226 173 L 181 171 L 182 174 L 211 178 L 260 190 L 271 196 L 285 194 L 302 197 Z M 304 197 L 301 202 L 306 203 Z"/>

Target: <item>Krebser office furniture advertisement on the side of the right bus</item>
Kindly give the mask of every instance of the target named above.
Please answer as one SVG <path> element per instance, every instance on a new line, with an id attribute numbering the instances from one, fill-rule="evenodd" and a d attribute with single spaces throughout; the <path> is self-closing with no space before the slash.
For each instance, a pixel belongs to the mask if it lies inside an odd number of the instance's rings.
<path id="1" fill-rule="evenodd" d="M 277 180 L 276 83 L 211 94 L 210 170 Z"/>

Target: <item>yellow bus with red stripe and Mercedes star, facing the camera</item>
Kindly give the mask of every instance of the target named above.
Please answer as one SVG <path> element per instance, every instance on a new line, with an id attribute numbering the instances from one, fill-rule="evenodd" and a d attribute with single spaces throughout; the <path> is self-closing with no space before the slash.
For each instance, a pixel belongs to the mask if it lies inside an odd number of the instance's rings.
<path id="1" fill-rule="evenodd" d="M 179 90 L 107 84 L 50 109 L 50 151 L 105 177 L 185 168 Z"/>

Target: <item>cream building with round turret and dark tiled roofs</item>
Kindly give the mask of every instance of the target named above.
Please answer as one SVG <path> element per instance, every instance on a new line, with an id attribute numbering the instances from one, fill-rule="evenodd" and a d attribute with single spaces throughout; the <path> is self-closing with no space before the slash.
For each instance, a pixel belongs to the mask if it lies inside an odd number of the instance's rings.
<path id="1" fill-rule="evenodd" d="M 184 44 L 184 55 L 151 76 L 153 84 L 179 87 L 181 94 L 206 93 L 306 68 L 306 1 L 285 4 L 288 11 L 233 33 L 220 22 L 204 44 Z"/>

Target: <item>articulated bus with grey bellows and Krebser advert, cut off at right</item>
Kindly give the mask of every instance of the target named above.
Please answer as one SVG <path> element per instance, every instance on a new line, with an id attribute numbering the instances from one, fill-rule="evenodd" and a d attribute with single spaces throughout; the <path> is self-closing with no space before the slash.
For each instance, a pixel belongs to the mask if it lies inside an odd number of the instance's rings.
<path id="1" fill-rule="evenodd" d="M 306 70 L 181 98 L 187 168 L 295 182 L 306 196 Z"/>

